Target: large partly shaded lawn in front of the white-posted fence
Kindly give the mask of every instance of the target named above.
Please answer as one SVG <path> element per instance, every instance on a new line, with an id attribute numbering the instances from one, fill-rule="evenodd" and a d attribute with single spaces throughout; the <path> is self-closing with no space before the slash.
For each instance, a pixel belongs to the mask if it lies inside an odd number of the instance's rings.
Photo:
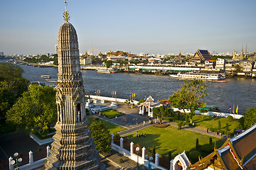
<path id="1" fill-rule="evenodd" d="M 199 139 L 199 145 L 204 145 L 209 143 L 210 136 L 203 135 L 197 132 L 191 132 L 189 130 L 177 130 L 177 128 L 168 126 L 167 128 L 156 128 L 149 127 L 138 131 L 139 134 L 147 133 L 147 137 L 136 137 L 136 132 L 126 135 L 129 142 L 134 144 L 139 144 L 140 147 L 145 147 L 146 149 L 152 148 L 154 145 L 156 147 L 156 152 L 158 154 L 165 154 L 171 151 L 172 155 L 176 155 L 185 151 L 189 151 L 193 147 L 196 147 L 196 138 Z M 223 145 L 223 141 L 219 138 L 212 137 L 213 143 L 216 142 L 217 147 Z"/>

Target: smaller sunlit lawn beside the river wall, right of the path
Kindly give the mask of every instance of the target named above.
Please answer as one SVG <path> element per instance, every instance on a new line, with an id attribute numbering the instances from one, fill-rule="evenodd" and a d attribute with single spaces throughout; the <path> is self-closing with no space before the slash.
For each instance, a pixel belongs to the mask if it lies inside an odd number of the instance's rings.
<path id="1" fill-rule="evenodd" d="M 218 128 L 218 120 L 221 121 L 221 130 L 226 130 L 226 124 L 229 125 L 230 132 L 233 132 L 235 128 L 238 127 L 239 122 L 237 119 L 228 120 L 228 118 L 213 118 L 206 115 L 194 115 L 193 121 L 196 124 L 196 128 Z"/>

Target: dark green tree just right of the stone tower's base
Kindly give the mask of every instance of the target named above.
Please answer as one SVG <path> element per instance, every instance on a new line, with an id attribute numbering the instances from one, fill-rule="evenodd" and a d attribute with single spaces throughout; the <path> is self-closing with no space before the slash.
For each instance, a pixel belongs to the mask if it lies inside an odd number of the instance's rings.
<path id="1" fill-rule="evenodd" d="M 100 153 L 108 153 L 111 149 L 111 135 L 109 131 L 106 129 L 106 125 L 104 123 L 92 122 L 89 125 L 89 130 L 91 130 L 91 137 L 94 138 L 94 142 L 96 144 L 96 149 Z"/>

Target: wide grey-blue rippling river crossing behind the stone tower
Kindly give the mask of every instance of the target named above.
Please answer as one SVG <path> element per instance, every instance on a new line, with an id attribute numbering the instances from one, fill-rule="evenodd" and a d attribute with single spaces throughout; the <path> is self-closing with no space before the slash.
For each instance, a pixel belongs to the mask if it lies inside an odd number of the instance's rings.
<path id="1" fill-rule="evenodd" d="M 0 60 L 1 61 L 1 60 Z M 51 85 L 41 78 L 42 74 L 49 74 L 52 79 L 57 79 L 55 67 L 30 67 L 20 65 L 24 70 L 23 77 L 29 81 L 40 81 Z M 172 79 L 169 76 L 150 74 L 104 74 L 91 70 L 82 70 L 84 89 L 95 91 L 99 89 L 101 96 L 111 97 L 111 91 L 116 91 L 118 98 L 130 98 L 135 94 L 135 100 L 152 96 L 155 100 L 168 99 L 170 95 L 182 86 L 184 80 Z M 238 114 L 243 114 L 247 109 L 256 107 L 256 79 L 231 78 L 226 82 L 204 81 L 207 86 L 208 96 L 204 99 L 207 105 L 219 106 L 222 112 L 228 113 L 228 107 L 239 105 Z"/>

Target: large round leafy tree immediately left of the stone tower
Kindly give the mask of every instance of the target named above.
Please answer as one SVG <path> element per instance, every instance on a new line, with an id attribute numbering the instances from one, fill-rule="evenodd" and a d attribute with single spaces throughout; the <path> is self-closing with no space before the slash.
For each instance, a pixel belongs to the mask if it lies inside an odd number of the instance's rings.
<path id="1" fill-rule="evenodd" d="M 50 124 L 57 121 L 55 95 L 56 91 L 51 86 L 30 85 L 28 91 L 6 113 L 7 121 L 18 129 L 47 133 Z"/>

